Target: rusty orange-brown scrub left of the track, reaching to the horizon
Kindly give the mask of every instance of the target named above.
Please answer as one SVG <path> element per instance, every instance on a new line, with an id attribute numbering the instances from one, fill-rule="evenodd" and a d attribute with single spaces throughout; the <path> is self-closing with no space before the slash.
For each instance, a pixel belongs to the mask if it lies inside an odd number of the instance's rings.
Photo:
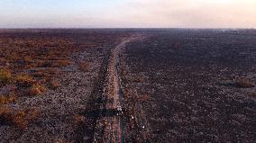
<path id="1" fill-rule="evenodd" d="M 67 31 L 1 31 L 0 126 L 24 128 L 40 115 L 39 110 L 27 109 L 25 103 L 19 106 L 24 98 L 41 98 L 50 90 L 58 90 L 63 67 L 77 64 L 79 70 L 87 72 L 86 61 L 76 63 L 71 57 L 81 49 L 102 47 L 114 41 L 109 40 L 108 33 L 101 32 L 78 36 Z M 21 109 L 14 109 L 14 104 Z"/>

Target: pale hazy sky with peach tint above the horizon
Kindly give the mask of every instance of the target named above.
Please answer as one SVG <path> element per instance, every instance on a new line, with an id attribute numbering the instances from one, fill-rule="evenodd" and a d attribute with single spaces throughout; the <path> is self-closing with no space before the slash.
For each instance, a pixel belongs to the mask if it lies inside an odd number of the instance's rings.
<path id="1" fill-rule="evenodd" d="M 256 0 L 0 0 L 0 28 L 256 28 Z"/>

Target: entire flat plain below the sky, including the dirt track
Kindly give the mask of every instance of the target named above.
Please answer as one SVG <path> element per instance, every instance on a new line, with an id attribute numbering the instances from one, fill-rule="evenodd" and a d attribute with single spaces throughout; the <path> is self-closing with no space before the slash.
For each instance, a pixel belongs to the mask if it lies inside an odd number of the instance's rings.
<path id="1" fill-rule="evenodd" d="M 255 142 L 256 31 L 0 30 L 0 142 Z"/>

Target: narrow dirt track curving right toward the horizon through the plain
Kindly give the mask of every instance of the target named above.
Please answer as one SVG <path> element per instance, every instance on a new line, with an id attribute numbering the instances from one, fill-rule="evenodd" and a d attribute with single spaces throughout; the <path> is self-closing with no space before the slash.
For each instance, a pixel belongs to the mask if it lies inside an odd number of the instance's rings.
<path id="1" fill-rule="evenodd" d="M 117 45 L 111 51 L 105 78 L 105 107 L 102 107 L 104 117 L 97 121 L 97 126 L 104 128 L 103 137 L 96 135 L 95 142 L 125 142 L 123 114 L 120 111 L 123 109 L 123 97 L 120 76 L 118 75 L 119 56 L 122 54 L 122 50 L 127 43 L 140 39 L 142 39 L 141 35 L 133 35 L 123 40 L 121 44 Z M 99 130 L 100 128 L 97 127 L 97 129 Z"/>

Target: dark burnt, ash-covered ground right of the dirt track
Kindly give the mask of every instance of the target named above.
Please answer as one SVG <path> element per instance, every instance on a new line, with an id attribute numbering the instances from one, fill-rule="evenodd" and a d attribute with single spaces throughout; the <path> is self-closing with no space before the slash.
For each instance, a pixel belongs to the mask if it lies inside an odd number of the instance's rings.
<path id="1" fill-rule="evenodd" d="M 148 34 L 122 57 L 126 141 L 255 142 L 256 31 Z"/>

